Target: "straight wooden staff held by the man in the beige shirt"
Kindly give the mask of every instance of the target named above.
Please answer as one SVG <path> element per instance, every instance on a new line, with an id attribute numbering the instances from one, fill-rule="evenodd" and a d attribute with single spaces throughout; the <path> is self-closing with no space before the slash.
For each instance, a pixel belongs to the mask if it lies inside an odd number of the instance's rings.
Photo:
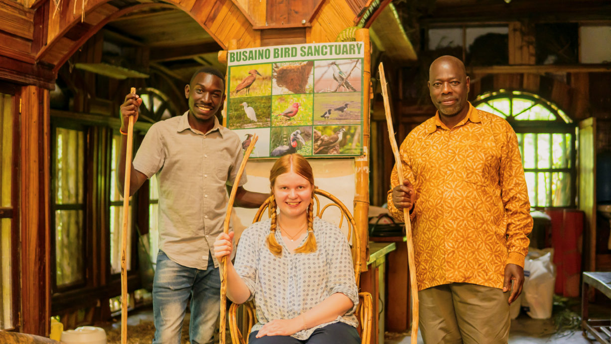
<path id="1" fill-rule="evenodd" d="M 131 87 L 131 94 L 136 88 Z M 134 116 L 130 116 L 127 127 L 127 150 L 125 154 L 125 183 L 123 186 L 123 228 L 121 230 L 121 344 L 127 343 L 127 221 L 130 214 L 131 149 L 134 139 Z"/>

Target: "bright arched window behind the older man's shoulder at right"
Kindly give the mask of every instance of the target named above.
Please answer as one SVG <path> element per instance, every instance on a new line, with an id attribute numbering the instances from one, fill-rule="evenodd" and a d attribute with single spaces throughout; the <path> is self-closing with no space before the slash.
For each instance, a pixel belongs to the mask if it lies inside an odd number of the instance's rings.
<path id="1" fill-rule="evenodd" d="M 565 112 L 521 91 L 484 93 L 473 105 L 503 117 L 516 131 L 532 207 L 575 205 L 576 128 Z"/>

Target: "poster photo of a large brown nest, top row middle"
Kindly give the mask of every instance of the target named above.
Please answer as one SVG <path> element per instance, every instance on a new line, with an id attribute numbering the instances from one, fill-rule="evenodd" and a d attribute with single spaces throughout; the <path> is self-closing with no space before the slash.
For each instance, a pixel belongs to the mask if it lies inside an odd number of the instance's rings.
<path id="1" fill-rule="evenodd" d="M 314 61 L 278 62 L 272 65 L 272 94 L 312 93 Z"/>

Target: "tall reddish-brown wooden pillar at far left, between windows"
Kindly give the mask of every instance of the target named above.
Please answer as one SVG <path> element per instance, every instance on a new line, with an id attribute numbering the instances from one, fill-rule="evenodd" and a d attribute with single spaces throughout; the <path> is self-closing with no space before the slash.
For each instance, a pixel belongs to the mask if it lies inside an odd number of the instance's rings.
<path id="1" fill-rule="evenodd" d="M 49 92 L 25 86 L 21 99 L 21 331 L 46 337 L 51 317 Z"/>

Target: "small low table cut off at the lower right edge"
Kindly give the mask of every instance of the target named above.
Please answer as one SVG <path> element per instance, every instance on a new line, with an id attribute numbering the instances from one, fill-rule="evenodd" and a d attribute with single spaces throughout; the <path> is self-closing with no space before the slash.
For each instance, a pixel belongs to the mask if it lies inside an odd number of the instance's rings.
<path id="1" fill-rule="evenodd" d="M 581 288 L 581 326 L 600 343 L 611 344 L 611 320 L 593 320 L 588 313 L 589 289 L 593 287 L 611 299 L 611 273 L 584 273 Z"/>

